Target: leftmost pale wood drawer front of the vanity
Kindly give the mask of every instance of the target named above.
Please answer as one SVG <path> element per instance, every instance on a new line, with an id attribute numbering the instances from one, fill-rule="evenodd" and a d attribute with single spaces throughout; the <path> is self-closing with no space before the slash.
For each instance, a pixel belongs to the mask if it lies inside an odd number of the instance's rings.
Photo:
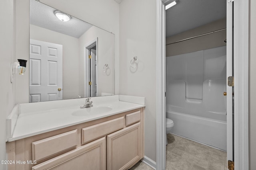
<path id="1" fill-rule="evenodd" d="M 69 131 L 32 143 L 33 160 L 41 160 L 77 145 L 77 130 Z"/>

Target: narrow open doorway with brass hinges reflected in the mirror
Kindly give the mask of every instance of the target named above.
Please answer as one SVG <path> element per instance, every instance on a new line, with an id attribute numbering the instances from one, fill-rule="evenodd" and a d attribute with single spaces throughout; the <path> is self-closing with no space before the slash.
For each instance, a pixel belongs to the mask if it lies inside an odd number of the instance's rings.
<path id="1" fill-rule="evenodd" d="M 85 47 L 85 96 L 98 96 L 97 88 L 97 40 L 93 41 Z"/>

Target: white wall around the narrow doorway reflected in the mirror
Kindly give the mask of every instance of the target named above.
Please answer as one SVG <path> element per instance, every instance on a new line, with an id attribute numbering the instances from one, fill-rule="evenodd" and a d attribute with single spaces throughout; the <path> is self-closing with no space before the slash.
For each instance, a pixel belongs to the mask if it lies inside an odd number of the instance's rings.
<path id="1" fill-rule="evenodd" d="M 114 34 L 109 33 L 103 29 L 92 26 L 79 38 L 79 95 L 84 96 L 84 51 L 85 46 L 92 43 L 98 38 L 98 96 L 102 92 L 114 94 L 115 81 L 115 58 L 114 58 Z M 103 72 L 104 64 L 108 64 L 110 68 L 109 74 Z"/>

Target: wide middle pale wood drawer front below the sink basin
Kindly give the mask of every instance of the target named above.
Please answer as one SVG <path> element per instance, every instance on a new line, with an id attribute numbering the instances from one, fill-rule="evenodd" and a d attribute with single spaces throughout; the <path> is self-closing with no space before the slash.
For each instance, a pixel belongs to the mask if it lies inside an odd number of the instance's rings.
<path id="1" fill-rule="evenodd" d="M 124 128 L 124 116 L 82 129 L 82 144 Z"/>

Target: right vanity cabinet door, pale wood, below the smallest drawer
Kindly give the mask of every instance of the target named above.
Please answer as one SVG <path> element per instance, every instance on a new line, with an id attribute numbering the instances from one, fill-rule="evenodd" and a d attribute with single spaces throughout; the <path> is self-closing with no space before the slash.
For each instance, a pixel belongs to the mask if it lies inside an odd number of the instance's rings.
<path id="1" fill-rule="evenodd" d="M 142 158 L 141 123 L 107 136 L 108 170 L 124 170 Z"/>

